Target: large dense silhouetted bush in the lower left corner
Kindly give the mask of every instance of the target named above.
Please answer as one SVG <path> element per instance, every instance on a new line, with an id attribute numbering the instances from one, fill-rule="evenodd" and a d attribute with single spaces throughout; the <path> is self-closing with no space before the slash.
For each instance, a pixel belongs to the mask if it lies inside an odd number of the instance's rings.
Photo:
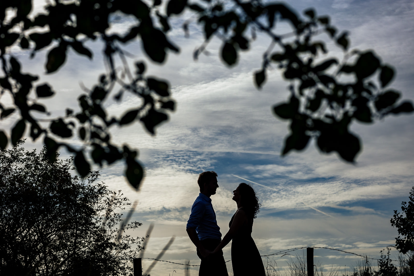
<path id="1" fill-rule="evenodd" d="M 129 275 L 143 238 L 125 235 L 141 223 L 120 223 L 128 199 L 23 143 L 0 151 L 0 274 Z"/>

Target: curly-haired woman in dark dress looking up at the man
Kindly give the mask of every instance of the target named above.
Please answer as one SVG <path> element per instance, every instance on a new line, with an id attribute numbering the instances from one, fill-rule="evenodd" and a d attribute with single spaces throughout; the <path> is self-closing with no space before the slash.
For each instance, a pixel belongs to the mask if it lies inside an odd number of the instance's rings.
<path id="1" fill-rule="evenodd" d="M 237 211 L 229 223 L 229 232 L 212 253 L 233 240 L 231 262 L 234 276 L 265 276 L 262 258 L 251 236 L 253 218 L 256 218 L 260 208 L 256 193 L 250 185 L 240 183 L 233 191 L 233 200 L 237 203 Z"/>

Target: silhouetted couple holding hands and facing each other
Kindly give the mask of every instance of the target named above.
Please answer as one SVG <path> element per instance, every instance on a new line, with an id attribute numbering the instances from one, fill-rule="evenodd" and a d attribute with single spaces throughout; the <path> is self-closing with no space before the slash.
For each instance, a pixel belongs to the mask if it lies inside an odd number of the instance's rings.
<path id="1" fill-rule="evenodd" d="M 198 177 L 200 194 L 191 207 L 187 233 L 197 247 L 201 259 L 199 276 L 228 276 L 222 248 L 230 240 L 231 262 L 234 276 L 265 276 L 265 268 L 251 236 L 253 218 L 259 211 L 258 198 L 250 185 L 240 183 L 233 191 L 237 203 L 236 213 L 229 223 L 229 232 L 221 240 L 210 196 L 216 193 L 217 173 L 208 171 Z"/>

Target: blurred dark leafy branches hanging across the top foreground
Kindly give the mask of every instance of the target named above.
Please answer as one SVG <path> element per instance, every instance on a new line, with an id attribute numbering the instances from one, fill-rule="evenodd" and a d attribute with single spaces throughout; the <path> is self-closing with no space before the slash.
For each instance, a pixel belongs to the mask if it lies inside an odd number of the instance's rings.
<path id="1" fill-rule="evenodd" d="M 349 131 L 351 122 L 372 123 L 389 114 L 414 110 L 411 102 L 398 102 L 400 92 L 388 87 L 395 75 L 392 67 L 383 63 L 372 50 L 349 51 L 347 32 L 337 31 L 329 17 L 318 16 L 313 9 L 306 10 L 304 17 L 300 17 L 284 3 L 261 0 L 199 0 L 191 3 L 169 0 L 167 5 L 161 5 L 161 0 L 154 0 L 152 5 L 141 0 L 52 2 L 46 5 L 47 13 L 33 19 L 28 17 L 31 0 L 0 3 L 3 74 L 0 86 L 2 93 L 8 92 L 14 99 L 13 107 L 0 105 L 1 118 L 16 110 L 20 112 L 9 137 L 0 130 L 0 147 L 4 149 L 9 140 L 16 144 L 26 127 L 30 127 L 33 140 L 43 137 L 51 160 L 62 146 L 75 154 L 75 166 L 82 176 L 90 169 L 87 155 L 99 165 L 123 159 L 128 181 L 133 187 L 139 187 L 143 168 L 137 161 L 137 151 L 127 145 L 113 144 L 109 128 L 140 121 L 154 134 L 155 127 L 168 119 L 168 112 L 174 110 L 175 103 L 166 80 L 144 75 L 144 62 L 135 61 L 135 70 L 130 69 L 123 45 L 140 38 L 148 58 L 163 63 L 168 52 L 179 51 L 167 37 L 171 30 L 168 21 L 173 16 L 183 16 L 184 11 L 193 14 L 183 24 L 185 34 L 189 35 L 188 24 L 194 20 L 202 26 L 205 38 L 193 53 L 195 59 L 205 52 L 212 37 L 217 36 L 222 40 L 221 60 L 229 67 L 235 66 L 240 52 L 250 49 L 257 31 L 271 38 L 270 46 L 263 53 L 261 69 L 254 73 L 254 79 L 260 89 L 266 82 L 267 70 L 275 64 L 291 84 L 289 101 L 273 108 L 277 117 L 290 122 L 291 134 L 286 137 L 282 155 L 293 149 L 300 151 L 315 139 L 321 152 L 337 152 L 343 160 L 354 162 L 361 150 L 361 142 Z M 166 11 L 161 8 L 165 6 Z M 135 17 L 136 23 L 125 35 L 108 34 L 115 15 L 123 14 Z M 290 33 L 277 34 L 276 26 L 281 21 L 290 24 Z M 327 55 L 325 42 L 316 38 L 319 34 L 325 34 L 321 39 L 330 39 L 343 50 L 342 60 Z M 48 84 L 35 84 L 39 79 L 37 76 L 22 73 L 11 48 L 27 49 L 34 56 L 49 46 L 45 69 L 47 73 L 53 73 L 63 66 L 71 49 L 92 59 L 93 53 L 86 43 L 96 40 L 103 44 L 107 72 L 78 98 L 81 108 L 78 113 L 67 109 L 64 118 L 51 119 L 47 127 L 42 127 L 32 110 L 47 114 L 46 107 L 39 101 L 55 92 Z M 122 63 L 121 69 L 117 62 Z M 31 91 L 36 91 L 35 98 L 29 97 Z M 125 110 L 120 118 L 108 118 L 103 102 L 110 95 L 121 101 L 126 91 L 140 98 L 140 104 Z M 83 141 L 81 149 L 65 142 L 68 141 L 65 139 L 76 136 Z"/>

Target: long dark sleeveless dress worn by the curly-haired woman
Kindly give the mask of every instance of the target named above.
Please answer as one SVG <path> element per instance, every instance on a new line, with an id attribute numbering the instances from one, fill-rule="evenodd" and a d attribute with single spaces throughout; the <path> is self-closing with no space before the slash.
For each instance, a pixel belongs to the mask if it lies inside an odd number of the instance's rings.
<path id="1" fill-rule="evenodd" d="M 243 208 L 242 208 L 243 209 Z M 233 223 L 231 218 L 229 227 Z M 253 216 L 240 227 L 231 242 L 231 263 L 234 276 L 265 276 L 265 267 L 252 238 Z"/>

